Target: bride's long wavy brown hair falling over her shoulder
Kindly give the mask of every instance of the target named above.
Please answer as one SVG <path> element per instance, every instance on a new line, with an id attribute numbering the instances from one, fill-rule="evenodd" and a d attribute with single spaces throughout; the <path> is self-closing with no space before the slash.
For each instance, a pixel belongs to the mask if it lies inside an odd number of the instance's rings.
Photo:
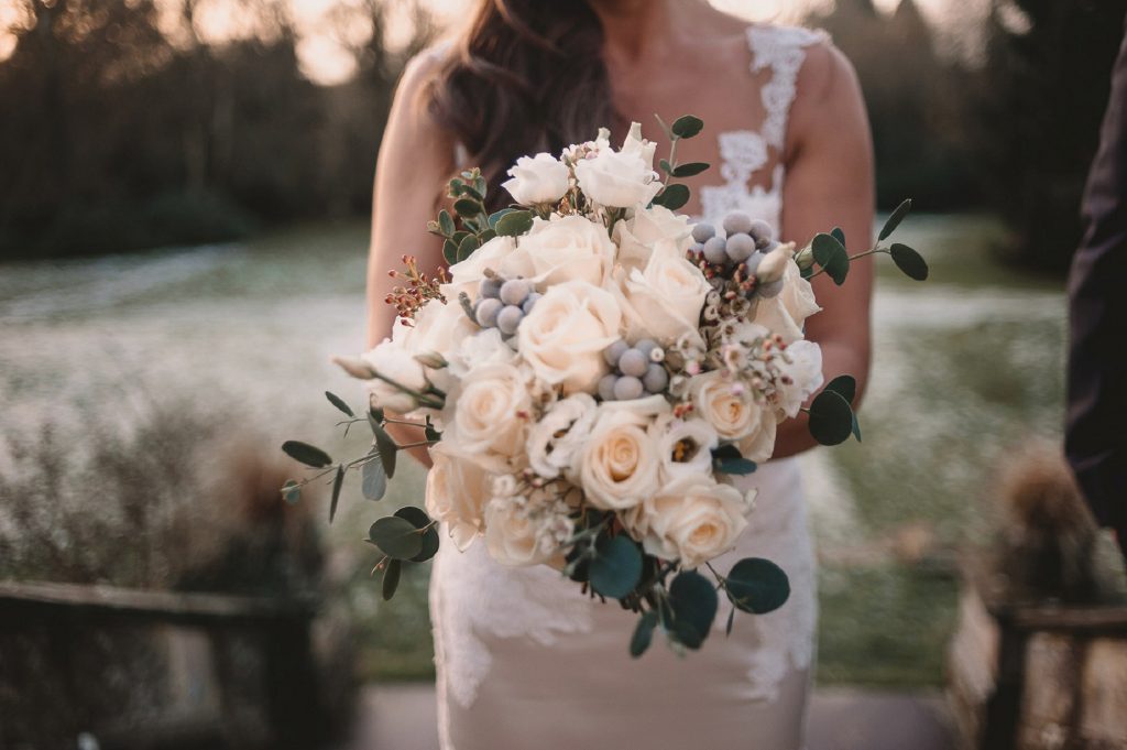
<path id="1" fill-rule="evenodd" d="M 586 0 L 480 0 L 428 89 L 437 123 L 489 180 L 492 209 L 517 157 L 586 141 L 612 125 L 603 27 Z"/>

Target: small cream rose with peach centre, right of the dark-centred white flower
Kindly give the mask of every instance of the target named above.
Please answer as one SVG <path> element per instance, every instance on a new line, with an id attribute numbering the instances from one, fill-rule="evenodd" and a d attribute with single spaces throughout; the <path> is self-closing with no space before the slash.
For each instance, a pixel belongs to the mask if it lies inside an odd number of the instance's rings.
<path id="1" fill-rule="evenodd" d="M 711 424 L 721 440 L 735 442 L 744 458 L 752 461 L 771 458 L 774 414 L 755 402 L 754 394 L 745 383 L 733 381 L 713 370 L 692 377 L 689 392 L 696 415 Z"/>

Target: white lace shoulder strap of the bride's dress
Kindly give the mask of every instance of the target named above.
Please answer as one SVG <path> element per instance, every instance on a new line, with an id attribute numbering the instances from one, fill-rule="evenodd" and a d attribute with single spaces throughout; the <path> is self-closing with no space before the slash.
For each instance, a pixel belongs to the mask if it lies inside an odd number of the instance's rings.
<path id="1" fill-rule="evenodd" d="M 787 116 L 795 102 L 798 71 L 806 59 L 806 47 L 828 39 L 822 30 L 797 26 L 748 26 L 747 45 L 752 50 L 752 72 L 770 68 L 771 80 L 763 85 L 763 140 L 782 149 L 787 139 Z"/>

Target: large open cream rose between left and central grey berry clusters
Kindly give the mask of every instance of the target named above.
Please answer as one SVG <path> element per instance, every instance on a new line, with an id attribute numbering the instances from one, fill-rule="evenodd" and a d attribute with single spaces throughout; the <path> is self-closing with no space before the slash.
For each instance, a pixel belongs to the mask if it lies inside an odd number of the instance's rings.
<path id="1" fill-rule="evenodd" d="M 614 297 L 584 281 L 548 288 L 517 329 L 517 351 L 538 378 L 565 394 L 594 391 L 606 372 L 603 350 L 619 338 Z"/>

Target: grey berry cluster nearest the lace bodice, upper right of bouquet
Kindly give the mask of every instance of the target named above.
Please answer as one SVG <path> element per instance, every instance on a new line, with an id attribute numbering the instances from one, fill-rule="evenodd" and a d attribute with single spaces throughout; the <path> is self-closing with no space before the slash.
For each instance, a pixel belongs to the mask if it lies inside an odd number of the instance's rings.
<path id="1" fill-rule="evenodd" d="M 691 261 L 699 264 L 704 275 L 713 281 L 713 286 L 725 286 L 725 281 L 735 280 L 745 297 L 774 297 L 782 291 L 782 281 L 760 284 L 755 272 L 763 257 L 779 245 L 774 240 L 771 224 L 752 219 L 743 211 L 733 211 L 724 218 L 724 233 L 716 227 L 701 222 L 693 227 L 693 245 L 689 249 Z"/>

